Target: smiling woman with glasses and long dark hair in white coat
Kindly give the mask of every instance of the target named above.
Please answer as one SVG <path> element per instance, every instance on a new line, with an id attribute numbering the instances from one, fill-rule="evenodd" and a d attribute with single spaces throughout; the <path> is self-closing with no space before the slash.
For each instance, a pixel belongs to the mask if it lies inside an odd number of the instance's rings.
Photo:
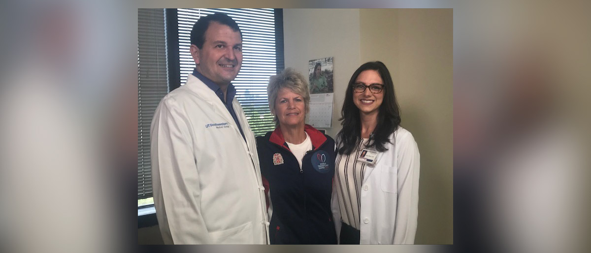
<path id="1" fill-rule="evenodd" d="M 340 120 L 332 198 L 339 243 L 414 244 L 420 159 L 413 135 L 400 126 L 384 63 L 353 73 Z"/>

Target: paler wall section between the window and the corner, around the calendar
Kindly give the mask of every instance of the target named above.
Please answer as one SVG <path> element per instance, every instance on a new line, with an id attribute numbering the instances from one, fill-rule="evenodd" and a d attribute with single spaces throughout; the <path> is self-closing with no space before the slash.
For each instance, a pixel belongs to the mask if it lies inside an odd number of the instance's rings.
<path id="1" fill-rule="evenodd" d="M 308 61 L 335 57 L 332 128 L 340 130 L 340 108 L 350 75 L 359 67 L 359 9 L 284 9 L 285 67 L 293 67 L 306 76 Z"/>

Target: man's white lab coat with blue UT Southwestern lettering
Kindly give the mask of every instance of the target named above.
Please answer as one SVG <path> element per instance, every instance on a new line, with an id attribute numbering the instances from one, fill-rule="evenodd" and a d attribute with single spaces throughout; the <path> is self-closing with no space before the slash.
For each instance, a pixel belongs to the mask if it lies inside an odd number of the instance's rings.
<path id="1" fill-rule="evenodd" d="M 238 126 L 192 74 L 164 96 L 151 125 L 152 187 L 166 244 L 267 244 L 256 141 L 238 100 Z"/>

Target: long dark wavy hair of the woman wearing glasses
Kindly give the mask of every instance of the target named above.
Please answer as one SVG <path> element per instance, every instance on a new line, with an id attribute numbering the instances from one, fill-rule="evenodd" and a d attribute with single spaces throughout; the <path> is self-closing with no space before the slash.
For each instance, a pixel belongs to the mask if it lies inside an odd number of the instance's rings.
<path id="1" fill-rule="evenodd" d="M 382 90 L 384 99 L 379 106 L 378 125 L 375 126 L 374 136 L 368 147 L 375 147 L 379 152 L 388 150 L 385 147 L 386 142 L 390 142 L 388 137 L 400 125 L 400 108 L 398 108 L 398 102 L 394 93 L 394 83 L 392 83 L 392 77 L 388 68 L 381 61 L 364 63 L 359 69 L 355 70 L 347 86 L 345 102 L 343 103 L 343 109 L 340 112 L 341 118 L 339 119 L 343 128 L 337 134 L 337 137 L 340 139 L 339 145 L 341 146 L 339 148 L 339 154 L 350 154 L 359 144 L 359 141 L 361 141 L 361 116 L 359 116 L 359 108 L 353 103 L 353 84 L 359 74 L 365 70 L 376 70 L 379 76 L 382 77 L 382 81 L 384 81 L 384 89 Z"/>

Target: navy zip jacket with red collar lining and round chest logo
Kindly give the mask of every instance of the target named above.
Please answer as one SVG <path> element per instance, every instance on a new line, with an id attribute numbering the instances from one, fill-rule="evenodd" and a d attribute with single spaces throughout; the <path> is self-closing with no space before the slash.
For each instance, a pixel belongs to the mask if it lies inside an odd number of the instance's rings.
<path id="1" fill-rule="evenodd" d="M 310 125 L 304 131 L 312 150 L 304 155 L 301 170 L 280 128 L 256 137 L 271 244 L 337 243 L 330 210 L 335 141 Z"/>

